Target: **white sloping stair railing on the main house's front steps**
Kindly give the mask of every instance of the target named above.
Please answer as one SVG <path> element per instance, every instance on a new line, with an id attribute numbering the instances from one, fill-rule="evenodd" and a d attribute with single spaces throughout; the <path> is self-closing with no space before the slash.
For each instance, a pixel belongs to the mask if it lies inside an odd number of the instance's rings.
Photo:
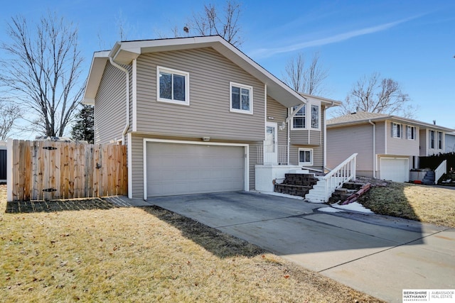
<path id="1" fill-rule="evenodd" d="M 340 165 L 333 168 L 331 172 L 323 177 L 323 180 L 326 181 L 326 201 L 328 201 L 335 189 L 343 186 L 344 182 L 355 180 L 355 160 L 357 155 L 357 153 L 350 155 L 348 159 L 344 160 Z"/>

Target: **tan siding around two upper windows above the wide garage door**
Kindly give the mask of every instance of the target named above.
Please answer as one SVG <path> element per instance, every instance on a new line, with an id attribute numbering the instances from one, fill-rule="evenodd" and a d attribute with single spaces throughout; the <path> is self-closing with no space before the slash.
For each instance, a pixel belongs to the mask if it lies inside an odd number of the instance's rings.
<path id="1" fill-rule="evenodd" d="M 156 67 L 189 73 L 190 105 L 156 101 Z M 253 87 L 253 114 L 230 112 L 230 82 Z M 264 140 L 264 84 L 212 48 L 140 55 L 137 131 L 220 140 Z"/>

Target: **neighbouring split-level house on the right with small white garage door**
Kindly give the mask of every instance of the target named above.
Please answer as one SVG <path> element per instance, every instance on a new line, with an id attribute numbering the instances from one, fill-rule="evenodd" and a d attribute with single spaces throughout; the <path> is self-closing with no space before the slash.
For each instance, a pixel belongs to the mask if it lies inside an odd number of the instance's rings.
<path id="1" fill-rule="evenodd" d="M 408 182 L 410 170 L 419 168 L 419 157 L 444 153 L 446 134 L 453 131 L 389 114 L 347 114 L 327 121 L 327 166 L 358 153 L 357 175 Z"/>

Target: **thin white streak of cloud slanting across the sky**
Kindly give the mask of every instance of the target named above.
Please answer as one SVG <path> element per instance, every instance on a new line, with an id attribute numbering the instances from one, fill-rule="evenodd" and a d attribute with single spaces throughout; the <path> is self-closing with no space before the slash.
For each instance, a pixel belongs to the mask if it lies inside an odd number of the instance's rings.
<path id="1" fill-rule="evenodd" d="M 417 18 L 417 16 L 414 16 L 411 18 L 405 18 L 405 19 L 395 21 L 395 22 L 381 24 L 379 26 L 372 26 L 369 28 L 361 28 L 356 31 L 349 31 L 347 33 L 340 33 L 338 35 L 332 35 L 331 37 L 327 37 L 327 38 L 321 38 L 321 39 L 305 41 L 305 42 L 301 42 L 301 43 L 295 43 L 295 44 L 284 46 L 282 48 L 259 48 L 256 50 L 252 50 L 250 52 L 250 55 L 255 58 L 258 58 L 258 57 L 264 58 L 264 57 L 271 57 L 272 55 L 277 55 L 280 53 L 289 53 L 289 52 L 293 52 L 295 50 L 302 50 L 304 48 L 311 48 L 314 46 L 321 46 L 321 45 L 326 45 L 326 44 L 331 44 L 331 43 L 337 43 L 337 42 L 341 42 L 344 40 L 348 40 L 350 38 L 358 37 L 360 35 L 368 35 L 371 33 L 378 33 L 380 31 L 385 31 L 389 28 L 397 26 L 400 23 L 410 21 L 414 18 Z"/>

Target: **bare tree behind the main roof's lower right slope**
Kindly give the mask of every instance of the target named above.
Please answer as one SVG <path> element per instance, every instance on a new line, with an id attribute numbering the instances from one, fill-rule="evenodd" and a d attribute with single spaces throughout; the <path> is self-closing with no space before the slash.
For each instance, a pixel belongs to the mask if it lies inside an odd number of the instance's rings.
<path id="1" fill-rule="evenodd" d="M 308 67 L 303 53 L 291 57 L 285 72 L 284 82 L 297 92 L 321 95 L 326 90 L 324 81 L 328 77 L 328 70 L 321 65 L 319 53 L 314 54 Z"/>

